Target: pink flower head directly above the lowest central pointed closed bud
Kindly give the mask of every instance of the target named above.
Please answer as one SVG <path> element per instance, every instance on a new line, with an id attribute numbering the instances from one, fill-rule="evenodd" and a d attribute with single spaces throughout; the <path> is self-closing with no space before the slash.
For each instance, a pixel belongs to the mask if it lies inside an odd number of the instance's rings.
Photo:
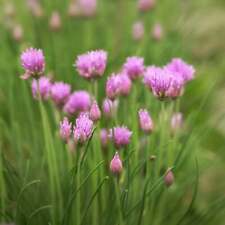
<path id="1" fill-rule="evenodd" d="M 127 127 L 114 127 L 110 130 L 110 138 L 117 148 L 122 148 L 130 143 L 132 132 Z"/>

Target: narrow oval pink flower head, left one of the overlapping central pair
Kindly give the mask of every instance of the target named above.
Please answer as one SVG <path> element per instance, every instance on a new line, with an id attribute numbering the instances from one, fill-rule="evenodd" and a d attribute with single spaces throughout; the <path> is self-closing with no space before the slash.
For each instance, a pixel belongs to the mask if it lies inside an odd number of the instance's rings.
<path id="1" fill-rule="evenodd" d="M 120 94 L 121 79 L 118 75 L 112 74 L 106 82 L 106 95 L 114 100 Z"/>

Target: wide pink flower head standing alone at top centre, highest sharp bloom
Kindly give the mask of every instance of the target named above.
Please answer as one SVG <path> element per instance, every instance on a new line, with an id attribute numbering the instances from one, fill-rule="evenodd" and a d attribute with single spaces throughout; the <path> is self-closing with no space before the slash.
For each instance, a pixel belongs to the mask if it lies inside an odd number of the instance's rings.
<path id="1" fill-rule="evenodd" d="M 80 76 L 91 79 L 101 77 L 105 72 L 107 52 L 103 50 L 90 51 L 79 55 L 75 62 Z"/>

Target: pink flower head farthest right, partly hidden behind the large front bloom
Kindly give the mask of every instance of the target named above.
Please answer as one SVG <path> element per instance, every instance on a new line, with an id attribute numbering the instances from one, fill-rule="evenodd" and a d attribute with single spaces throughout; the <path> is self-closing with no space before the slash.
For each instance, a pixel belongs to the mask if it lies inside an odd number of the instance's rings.
<path id="1" fill-rule="evenodd" d="M 171 62 L 166 65 L 165 68 L 171 72 L 175 72 L 183 79 L 184 83 L 194 79 L 194 67 L 192 65 L 187 64 L 180 58 L 172 59 Z"/>

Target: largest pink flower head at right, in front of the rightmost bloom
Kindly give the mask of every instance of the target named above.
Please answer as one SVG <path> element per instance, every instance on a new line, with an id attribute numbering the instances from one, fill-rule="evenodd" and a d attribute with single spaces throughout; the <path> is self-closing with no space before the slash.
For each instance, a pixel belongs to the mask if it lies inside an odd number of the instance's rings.
<path id="1" fill-rule="evenodd" d="M 166 68 L 150 66 L 144 74 L 144 83 L 159 99 L 176 98 L 182 94 L 183 80 Z"/>

